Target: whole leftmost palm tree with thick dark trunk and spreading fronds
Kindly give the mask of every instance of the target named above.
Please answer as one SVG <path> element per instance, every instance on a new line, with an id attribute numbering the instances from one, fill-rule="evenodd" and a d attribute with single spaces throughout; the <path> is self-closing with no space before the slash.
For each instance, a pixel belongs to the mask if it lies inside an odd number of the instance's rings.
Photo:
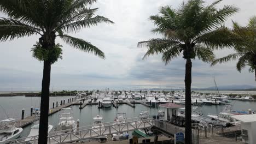
<path id="1" fill-rule="evenodd" d="M 47 143 L 49 86 L 51 64 L 61 58 L 61 45 L 56 37 L 84 52 L 105 58 L 104 53 L 86 40 L 74 38 L 65 32 L 79 32 L 101 22 L 113 23 L 103 16 L 94 16 L 98 8 L 88 8 L 96 0 L 1 0 L 0 10 L 9 18 L 0 18 L 0 40 L 13 40 L 34 34 L 40 36 L 32 51 L 43 61 L 42 96 L 38 143 Z"/>

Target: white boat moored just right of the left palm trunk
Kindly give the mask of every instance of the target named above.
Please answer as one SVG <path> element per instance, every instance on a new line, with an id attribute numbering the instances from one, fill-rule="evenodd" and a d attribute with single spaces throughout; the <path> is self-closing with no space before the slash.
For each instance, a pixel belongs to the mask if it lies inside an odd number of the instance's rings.
<path id="1" fill-rule="evenodd" d="M 73 111 L 70 107 L 62 108 L 59 118 L 59 123 L 56 125 L 55 131 L 68 132 L 77 128 L 77 123 L 74 121 Z"/>

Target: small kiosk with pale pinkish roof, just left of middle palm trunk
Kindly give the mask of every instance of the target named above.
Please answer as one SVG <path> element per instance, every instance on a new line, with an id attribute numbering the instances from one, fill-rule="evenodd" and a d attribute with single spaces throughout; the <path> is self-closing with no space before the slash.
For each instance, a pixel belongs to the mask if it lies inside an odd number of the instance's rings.
<path id="1" fill-rule="evenodd" d="M 175 103 L 161 104 L 159 107 L 165 111 L 165 121 L 171 121 L 172 116 L 178 116 L 178 109 L 184 108 L 183 105 L 178 105 Z"/>

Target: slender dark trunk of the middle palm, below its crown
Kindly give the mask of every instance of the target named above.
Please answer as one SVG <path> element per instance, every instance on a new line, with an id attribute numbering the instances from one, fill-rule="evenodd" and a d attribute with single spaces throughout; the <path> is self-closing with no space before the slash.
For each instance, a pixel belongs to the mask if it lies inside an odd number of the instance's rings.
<path id="1" fill-rule="evenodd" d="M 192 62 L 187 58 L 185 69 L 185 144 L 192 143 L 191 139 L 191 68 Z"/>

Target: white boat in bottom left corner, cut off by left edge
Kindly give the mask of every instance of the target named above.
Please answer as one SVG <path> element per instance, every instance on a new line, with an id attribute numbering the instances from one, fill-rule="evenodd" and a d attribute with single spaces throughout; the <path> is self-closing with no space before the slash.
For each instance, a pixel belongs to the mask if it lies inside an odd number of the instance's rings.
<path id="1" fill-rule="evenodd" d="M 16 128 L 14 121 L 14 118 L 8 118 L 0 121 L 0 143 L 17 139 L 20 136 L 23 129 Z"/>

